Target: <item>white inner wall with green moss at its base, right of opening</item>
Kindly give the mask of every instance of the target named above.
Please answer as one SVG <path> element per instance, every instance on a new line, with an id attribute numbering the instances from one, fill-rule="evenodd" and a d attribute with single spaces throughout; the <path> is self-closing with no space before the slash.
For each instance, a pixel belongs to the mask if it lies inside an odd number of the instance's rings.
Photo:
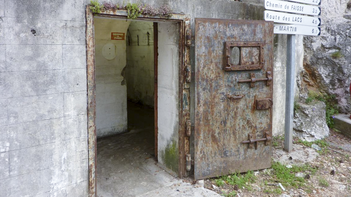
<path id="1" fill-rule="evenodd" d="M 158 162 L 178 171 L 179 33 L 176 22 L 158 22 Z"/>

